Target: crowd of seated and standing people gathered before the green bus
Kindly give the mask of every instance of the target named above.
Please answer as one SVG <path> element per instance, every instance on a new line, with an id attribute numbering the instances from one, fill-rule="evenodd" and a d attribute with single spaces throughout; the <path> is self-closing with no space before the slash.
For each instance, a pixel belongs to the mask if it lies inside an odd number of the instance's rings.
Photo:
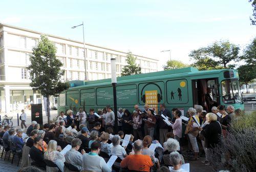
<path id="1" fill-rule="evenodd" d="M 195 105 L 182 115 L 177 108 L 169 111 L 165 104 L 160 104 L 159 112 L 150 109 L 148 104 L 140 110 L 136 104 L 132 113 L 118 109 L 119 132 L 114 134 L 115 115 L 110 106 L 97 113 L 90 109 L 89 114 L 82 108 L 77 114 L 68 110 L 67 116 L 61 112 L 55 123 L 40 126 L 32 121 L 28 128 L 23 112 L 22 128 L 25 126 L 26 134 L 23 129 L 4 126 L 0 129 L 0 138 L 5 150 L 22 154 L 22 167 L 34 165 L 47 171 L 69 171 L 67 164 L 71 164 L 79 171 L 113 171 L 117 167 L 136 171 L 184 171 L 181 168 L 186 163 L 184 156 L 191 161 L 199 160 L 199 147 L 206 157 L 202 163 L 210 165 L 209 152 L 221 144 L 231 120 L 240 114 L 241 110 L 234 111 L 232 105 L 213 106 L 211 112 Z M 122 146 L 125 135 L 131 137 L 129 143 Z M 183 153 L 186 142 L 192 150 L 188 156 Z M 150 149 L 152 143 L 158 145 L 155 150 Z M 72 148 L 61 153 L 67 145 Z M 117 167 L 113 168 L 106 164 L 112 155 L 118 157 Z M 54 162 L 58 168 L 47 166 L 45 160 Z M 169 166 L 172 167 L 166 168 Z"/>

